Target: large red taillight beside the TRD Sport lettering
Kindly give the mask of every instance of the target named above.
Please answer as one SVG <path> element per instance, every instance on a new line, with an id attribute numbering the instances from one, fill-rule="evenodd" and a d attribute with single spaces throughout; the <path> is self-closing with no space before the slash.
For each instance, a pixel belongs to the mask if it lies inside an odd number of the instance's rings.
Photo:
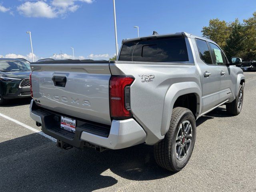
<path id="1" fill-rule="evenodd" d="M 130 85 L 133 76 L 111 76 L 109 81 L 110 115 L 115 119 L 132 116 L 130 110 Z"/>

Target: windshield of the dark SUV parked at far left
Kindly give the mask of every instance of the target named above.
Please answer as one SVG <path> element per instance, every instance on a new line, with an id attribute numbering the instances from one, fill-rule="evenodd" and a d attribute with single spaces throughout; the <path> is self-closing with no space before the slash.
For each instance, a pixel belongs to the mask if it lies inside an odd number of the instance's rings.
<path id="1" fill-rule="evenodd" d="M 0 71 L 30 71 L 30 66 L 22 61 L 0 60 Z"/>

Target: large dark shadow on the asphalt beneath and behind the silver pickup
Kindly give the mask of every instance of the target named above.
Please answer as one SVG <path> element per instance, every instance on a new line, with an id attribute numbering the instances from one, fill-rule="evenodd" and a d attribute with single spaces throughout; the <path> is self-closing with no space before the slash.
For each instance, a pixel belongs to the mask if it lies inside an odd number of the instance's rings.
<path id="1" fill-rule="evenodd" d="M 3 191 L 93 191 L 117 184 L 118 177 L 139 181 L 173 174 L 156 165 L 152 146 L 60 150 L 38 134 L 1 142 L 0 170 Z"/>

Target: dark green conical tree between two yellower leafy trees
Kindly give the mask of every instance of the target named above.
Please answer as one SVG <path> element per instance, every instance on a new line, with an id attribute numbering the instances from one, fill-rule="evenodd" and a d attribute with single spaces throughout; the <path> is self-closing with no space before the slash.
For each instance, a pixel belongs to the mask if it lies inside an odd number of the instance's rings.
<path id="1" fill-rule="evenodd" d="M 231 29 L 230 35 L 226 40 L 226 46 L 224 47 L 228 60 L 232 56 L 243 57 L 244 51 L 244 26 L 236 19 L 229 24 Z"/>

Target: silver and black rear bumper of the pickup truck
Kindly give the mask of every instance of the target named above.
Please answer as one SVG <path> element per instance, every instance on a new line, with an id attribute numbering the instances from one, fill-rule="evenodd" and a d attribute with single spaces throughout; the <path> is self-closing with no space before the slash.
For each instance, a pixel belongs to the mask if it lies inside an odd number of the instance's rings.
<path id="1" fill-rule="evenodd" d="M 146 139 L 145 131 L 132 118 L 113 120 L 111 126 L 77 120 L 76 132 L 72 133 L 60 128 L 60 122 L 56 119 L 61 115 L 64 114 L 38 109 L 31 100 L 30 117 L 42 124 L 42 131 L 77 148 L 84 148 L 85 142 L 89 142 L 109 149 L 121 149 L 144 143 Z"/>

